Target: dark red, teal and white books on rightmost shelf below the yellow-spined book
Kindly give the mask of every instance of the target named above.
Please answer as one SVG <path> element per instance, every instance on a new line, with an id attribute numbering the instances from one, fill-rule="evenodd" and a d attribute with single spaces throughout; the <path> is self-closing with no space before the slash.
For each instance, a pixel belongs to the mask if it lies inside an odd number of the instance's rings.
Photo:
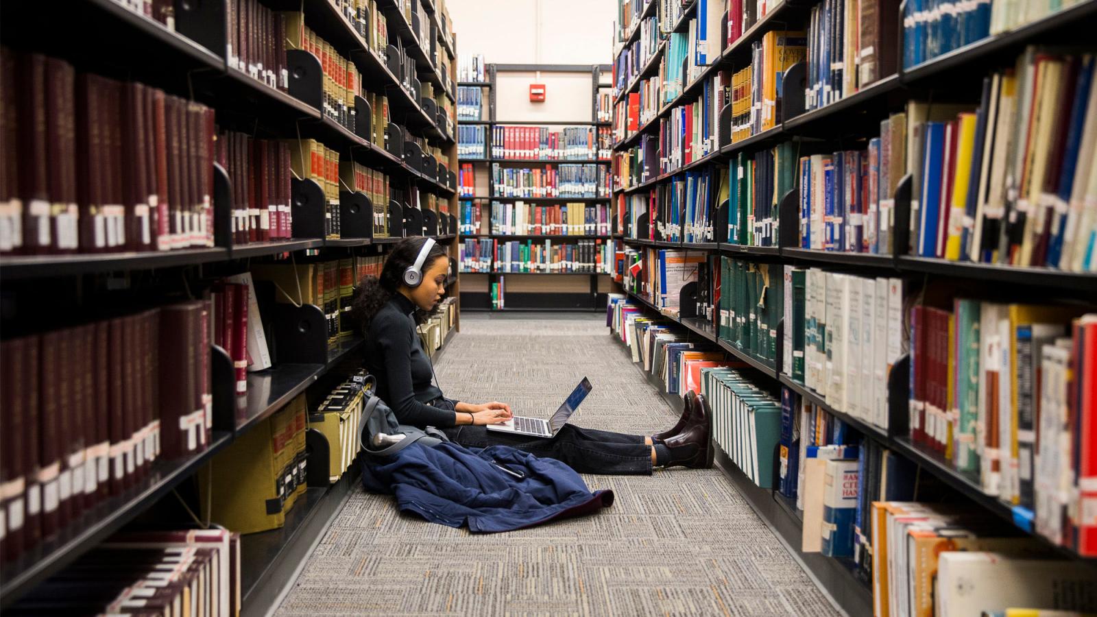
<path id="1" fill-rule="evenodd" d="M 1071 513 L 1093 498 L 1083 393 L 1097 374 L 1097 315 L 962 298 L 949 308 L 911 310 L 912 441 L 977 475 L 1053 542 L 1093 556 L 1097 529 Z"/>

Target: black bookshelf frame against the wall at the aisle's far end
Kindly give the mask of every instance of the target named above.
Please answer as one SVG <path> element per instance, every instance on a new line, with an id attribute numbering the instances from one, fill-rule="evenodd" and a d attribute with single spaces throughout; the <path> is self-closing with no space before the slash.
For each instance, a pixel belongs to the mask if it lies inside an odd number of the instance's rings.
<path id="1" fill-rule="evenodd" d="M 546 168 L 546 166 L 556 165 L 586 165 L 586 166 L 599 166 L 608 170 L 611 161 L 609 159 L 602 158 L 558 158 L 558 159 L 544 159 L 544 158 L 511 158 L 511 157 L 500 157 L 494 156 L 491 149 L 493 131 L 495 127 L 523 127 L 523 126 L 590 126 L 596 130 L 607 128 L 611 125 L 611 122 L 602 115 L 599 115 L 599 94 L 601 91 L 609 88 L 608 85 L 602 83 L 602 76 L 610 67 L 607 65 L 499 65 L 499 64 L 487 64 L 485 76 L 487 81 L 467 81 L 460 82 L 459 86 L 465 86 L 470 88 L 479 88 L 480 92 L 486 92 L 483 96 L 483 105 L 480 108 L 480 116 L 478 120 L 471 120 L 465 117 L 459 117 L 459 126 L 483 126 L 484 136 L 484 156 L 482 157 L 459 157 L 459 165 L 461 164 L 472 164 L 474 167 L 474 173 L 484 173 L 487 178 L 486 187 L 479 187 L 482 190 L 486 189 L 484 192 L 486 194 L 460 194 L 459 200 L 465 204 L 480 203 L 482 207 L 490 207 L 490 203 L 504 203 L 504 204 L 514 204 L 516 202 L 521 202 L 523 204 L 534 204 L 534 205 L 563 205 L 567 203 L 581 203 L 581 204 L 609 204 L 610 197 L 584 197 L 584 198 L 568 198 L 568 197 L 491 197 L 496 193 L 497 187 L 495 178 L 493 177 L 491 169 L 493 166 L 499 166 L 502 169 L 507 168 L 531 168 L 540 169 Z M 499 115 L 505 115 L 497 110 L 497 98 L 498 98 L 498 76 L 499 72 L 514 72 L 514 71 L 548 71 L 548 72 L 589 72 L 591 79 L 591 106 L 590 106 L 590 117 L 588 121 L 566 121 L 566 120 L 499 120 Z M 460 191 L 460 189 L 459 189 Z M 489 214 L 489 213 L 488 213 Z M 477 240 L 477 242 L 508 242 L 508 240 L 528 240 L 532 243 L 539 243 L 543 240 L 548 240 L 553 246 L 557 246 L 561 243 L 569 243 L 572 240 L 612 240 L 609 235 L 602 234 L 570 234 L 570 235 L 559 235 L 559 234 L 501 234 L 489 229 L 490 222 L 483 223 L 483 233 L 477 234 L 464 234 L 460 235 L 461 240 Z M 472 277 L 477 279 L 477 287 L 475 291 L 472 291 L 472 283 L 466 284 L 466 291 L 462 296 L 462 302 L 466 310 L 476 311 L 535 311 L 538 308 L 543 308 L 545 311 L 596 311 L 601 306 L 604 306 L 606 302 L 606 288 L 604 279 L 608 277 L 608 272 L 543 272 L 543 271 L 528 271 L 528 272 L 508 272 L 500 270 L 497 263 L 493 260 L 491 263 L 487 265 L 486 268 L 471 271 L 464 270 L 466 281 L 472 280 Z M 496 285 L 501 285 L 507 276 L 511 277 L 536 277 L 539 280 L 567 280 L 572 281 L 577 278 L 588 278 L 589 292 L 579 293 L 574 288 L 561 287 L 561 285 L 538 285 L 536 291 L 528 292 L 512 292 L 508 293 L 508 304 L 505 307 L 499 307 L 497 301 L 494 302 L 491 299 L 491 290 Z M 542 277 L 548 277 L 548 279 L 542 279 Z M 480 280 L 483 279 L 484 282 Z"/>

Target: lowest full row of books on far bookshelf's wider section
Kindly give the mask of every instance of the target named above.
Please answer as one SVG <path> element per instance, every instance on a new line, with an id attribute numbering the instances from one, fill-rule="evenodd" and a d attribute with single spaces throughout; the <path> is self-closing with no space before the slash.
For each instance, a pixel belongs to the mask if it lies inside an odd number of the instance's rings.
<path id="1" fill-rule="evenodd" d="M 612 242 L 491 240 L 495 272 L 610 273 Z"/>

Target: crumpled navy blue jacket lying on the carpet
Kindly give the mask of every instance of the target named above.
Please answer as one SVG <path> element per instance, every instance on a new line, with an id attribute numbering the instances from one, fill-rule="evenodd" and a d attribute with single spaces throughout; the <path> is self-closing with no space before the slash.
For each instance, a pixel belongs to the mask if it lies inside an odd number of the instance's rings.
<path id="1" fill-rule="evenodd" d="M 479 532 L 512 531 L 613 504 L 612 491 L 591 493 L 566 464 L 509 446 L 412 444 L 380 461 L 365 457 L 362 484 L 395 495 L 400 512 Z"/>

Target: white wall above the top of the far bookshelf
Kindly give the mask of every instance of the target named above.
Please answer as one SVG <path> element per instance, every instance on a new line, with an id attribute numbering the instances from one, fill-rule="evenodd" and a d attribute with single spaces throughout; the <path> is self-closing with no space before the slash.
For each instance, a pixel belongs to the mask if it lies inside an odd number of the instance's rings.
<path id="1" fill-rule="evenodd" d="M 483 54 L 495 64 L 613 61 L 617 0 L 445 0 L 445 5 L 460 54 Z"/>

